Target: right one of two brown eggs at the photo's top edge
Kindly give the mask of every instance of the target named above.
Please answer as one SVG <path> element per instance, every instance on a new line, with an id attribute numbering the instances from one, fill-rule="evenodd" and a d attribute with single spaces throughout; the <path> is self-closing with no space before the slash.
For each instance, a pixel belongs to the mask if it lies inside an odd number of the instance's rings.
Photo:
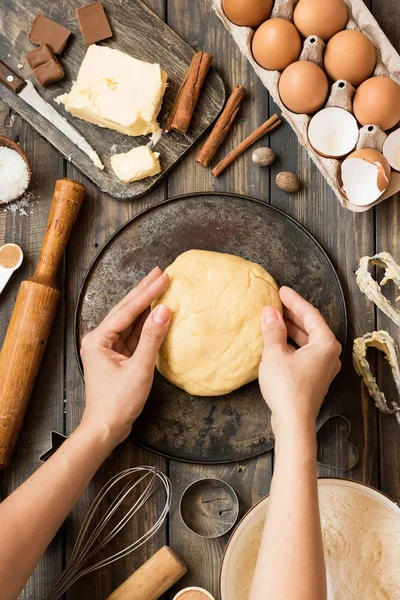
<path id="1" fill-rule="evenodd" d="M 348 17 L 344 0 L 299 0 L 293 21 L 304 37 L 317 35 L 327 42 L 346 27 Z"/>

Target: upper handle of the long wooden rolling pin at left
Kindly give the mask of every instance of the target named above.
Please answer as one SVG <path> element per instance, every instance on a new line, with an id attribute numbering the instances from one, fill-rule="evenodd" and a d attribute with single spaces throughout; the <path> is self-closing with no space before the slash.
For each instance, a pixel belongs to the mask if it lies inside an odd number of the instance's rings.
<path id="1" fill-rule="evenodd" d="M 58 267 L 84 197 L 81 183 L 67 178 L 56 181 L 39 262 L 30 281 L 56 287 Z"/>

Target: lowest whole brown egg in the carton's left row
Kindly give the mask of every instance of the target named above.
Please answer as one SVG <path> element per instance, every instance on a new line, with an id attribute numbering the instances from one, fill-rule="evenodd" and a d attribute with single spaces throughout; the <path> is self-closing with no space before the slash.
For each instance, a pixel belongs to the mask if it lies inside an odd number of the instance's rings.
<path id="1" fill-rule="evenodd" d="M 325 104 L 328 91 L 325 73 L 308 60 L 289 65 L 279 80 L 281 100 L 294 113 L 312 115 Z"/>

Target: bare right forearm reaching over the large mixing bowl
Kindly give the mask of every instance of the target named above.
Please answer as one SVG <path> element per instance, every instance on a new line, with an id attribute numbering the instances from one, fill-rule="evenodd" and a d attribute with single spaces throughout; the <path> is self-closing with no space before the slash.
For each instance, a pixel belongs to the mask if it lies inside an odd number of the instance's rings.
<path id="1" fill-rule="evenodd" d="M 324 600 L 315 426 L 277 435 L 275 469 L 250 600 Z"/>

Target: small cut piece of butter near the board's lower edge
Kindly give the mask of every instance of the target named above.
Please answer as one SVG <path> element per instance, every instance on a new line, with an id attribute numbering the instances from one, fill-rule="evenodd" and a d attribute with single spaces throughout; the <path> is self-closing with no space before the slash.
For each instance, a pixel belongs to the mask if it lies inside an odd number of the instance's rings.
<path id="1" fill-rule="evenodd" d="M 111 166 L 114 173 L 125 183 L 139 181 L 161 171 L 158 152 L 153 152 L 148 146 L 138 146 L 129 152 L 114 154 Z"/>

